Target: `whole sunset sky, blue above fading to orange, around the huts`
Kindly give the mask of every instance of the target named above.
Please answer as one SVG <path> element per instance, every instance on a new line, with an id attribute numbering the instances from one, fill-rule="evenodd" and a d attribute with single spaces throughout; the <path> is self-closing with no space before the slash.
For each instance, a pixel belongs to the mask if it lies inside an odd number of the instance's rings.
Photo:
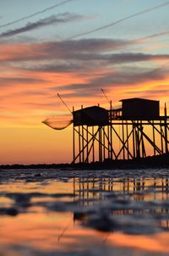
<path id="1" fill-rule="evenodd" d="M 0 164 L 72 160 L 68 108 L 169 103 L 169 1 L 0 0 Z M 104 89 L 106 97 L 101 92 Z"/>

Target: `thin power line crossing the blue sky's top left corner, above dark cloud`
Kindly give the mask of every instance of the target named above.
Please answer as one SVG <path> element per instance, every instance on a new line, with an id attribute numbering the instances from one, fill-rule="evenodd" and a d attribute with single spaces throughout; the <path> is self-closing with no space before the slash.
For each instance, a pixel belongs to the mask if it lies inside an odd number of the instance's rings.
<path id="1" fill-rule="evenodd" d="M 50 7 L 48 7 L 48 8 L 44 8 L 44 9 L 42 9 L 41 11 L 38 11 L 38 12 L 36 12 L 36 13 L 34 13 L 34 14 L 30 14 L 30 15 L 24 16 L 24 17 L 22 17 L 22 18 L 15 19 L 15 20 L 13 20 L 13 21 L 11 21 L 11 22 L 5 23 L 5 24 L 3 24 L 3 25 L 0 25 L 0 28 L 6 27 L 6 26 L 8 26 L 8 25 L 14 25 L 14 24 L 18 23 L 19 21 L 23 21 L 23 20 L 25 20 L 25 19 L 30 19 L 30 18 L 32 18 L 32 17 L 34 17 L 34 16 L 36 16 L 36 15 L 46 13 L 47 11 L 50 11 L 50 10 L 52 10 L 53 8 L 57 8 L 57 7 L 60 6 L 60 5 L 63 5 L 63 4 L 65 4 L 65 3 L 72 2 L 72 1 L 74 1 L 74 0 L 64 0 L 64 1 L 61 2 L 61 3 L 57 3 L 57 4 L 54 4 L 54 5 L 50 6 Z"/>

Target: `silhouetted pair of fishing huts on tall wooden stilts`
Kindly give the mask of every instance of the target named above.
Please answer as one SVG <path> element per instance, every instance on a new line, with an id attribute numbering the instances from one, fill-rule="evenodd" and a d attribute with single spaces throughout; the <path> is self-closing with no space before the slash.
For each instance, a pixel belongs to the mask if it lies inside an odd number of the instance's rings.
<path id="1" fill-rule="evenodd" d="M 91 106 L 73 109 L 73 163 L 139 159 L 168 153 L 169 116 L 160 103 L 123 99 L 122 108 Z"/>

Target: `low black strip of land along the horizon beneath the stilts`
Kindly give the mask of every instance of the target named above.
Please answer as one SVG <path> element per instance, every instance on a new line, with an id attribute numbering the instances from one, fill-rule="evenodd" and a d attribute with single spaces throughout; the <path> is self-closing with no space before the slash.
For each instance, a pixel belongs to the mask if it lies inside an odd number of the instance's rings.
<path id="1" fill-rule="evenodd" d="M 113 170 L 113 169 L 147 169 L 169 168 L 169 153 L 149 156 L 144 159 L 112 160 L 104 162 L 78 163 L 78 164 L 3 164 L 0 170 L 20 169 L 79 169 L 79 170 Z"/>

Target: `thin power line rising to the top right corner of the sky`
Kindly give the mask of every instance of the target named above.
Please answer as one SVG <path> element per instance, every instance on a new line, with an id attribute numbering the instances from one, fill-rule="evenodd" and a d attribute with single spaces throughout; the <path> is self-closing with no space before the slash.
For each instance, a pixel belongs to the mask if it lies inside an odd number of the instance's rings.
<path id="1" fill-rule="evenodd" d="M 146 14 L 146 13 L 150 13 L 150 12 L 154 11 L 155 9 L 162 8 L 162 7 L 164 7 L 164 6 L 168 5 L 168 4 L 169 4 L 169 1 L 167 1 L 166 3 L 161 3 L 159 5 L 156 5 L 155 7 L 144 9 L 143 11 L 140 11 L 139 13 L 131 14 L 131 15 L 127 16 L 127 17 L 124 17 L 123 19 L 118 19 L 117 21 L 114 21 L 114 22 L 109 23 L 107 25 L 102 25 L 102 26 L 100 26 L 100 27 L 98 27 L 98 28 L 96 28 L 94 30 L 86 31 L 86 32 L 80 33 L 78 35 L 71 36 L 68 39 L 74 39 L 74 38 L 79 37 L 79 36 L 86 36 L 86 35 L 92 34 L 92 33 L 96 32 L 96 31 L 105 30 L 106 28 L 109 28 L 109 27 L 112 27 L 114 25 L 117 25 L 117 24 L 123 22 L 124 20 L 132 19 L 132 18 L 134 18 L 136 16 L 139 16 L 139 15 L 142 15 L 142 14 Z"/>

